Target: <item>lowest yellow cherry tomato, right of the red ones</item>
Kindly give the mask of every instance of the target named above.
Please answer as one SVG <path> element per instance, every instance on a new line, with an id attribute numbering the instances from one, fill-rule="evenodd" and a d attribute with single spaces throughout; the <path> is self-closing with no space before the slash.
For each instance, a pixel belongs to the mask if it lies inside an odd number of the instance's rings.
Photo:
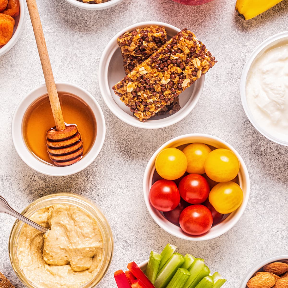
<path id="1" fill-rule="evenodd" d="M 219 183 L 209 194 L 209 202 L 221 214 L 235 211 L 243 201 L 243 191 L 235 182 Z"/>

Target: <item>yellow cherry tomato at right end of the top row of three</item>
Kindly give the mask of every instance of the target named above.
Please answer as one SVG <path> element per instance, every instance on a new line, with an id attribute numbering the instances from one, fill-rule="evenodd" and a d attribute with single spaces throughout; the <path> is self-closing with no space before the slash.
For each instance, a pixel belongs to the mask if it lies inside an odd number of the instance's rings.
<path id="1" fill-rule="evenodd" d="M 237 156 L 228 149 L 215 149 L 205 160 L 207 176 L 216 182 L 228 182 L 234 179 L 240 168 Z"/>

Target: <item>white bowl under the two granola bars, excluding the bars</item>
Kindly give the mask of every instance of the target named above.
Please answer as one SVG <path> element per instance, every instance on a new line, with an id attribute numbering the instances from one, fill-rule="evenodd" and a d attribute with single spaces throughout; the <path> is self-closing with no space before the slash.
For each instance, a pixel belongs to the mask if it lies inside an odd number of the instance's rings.
<path id="1" fill-rule="evenodd" d="M 167 31 L 168 38 L 176 35 L 180 31 L 180 29 L 176 28 L 175 26 L 162 22 L 141 22 L 133 24 L 117 33 L 111 39 L 101 56 L 98 70 L 100 92 L 106 105 L 113 112 L 113 114 L 127 124 L 146 129 L 167 127 L 185 118 L 192 111 L 200 98 L 205 77 L 203 75 L 191 87 L 187 88 L 183 93 L 181 93 L 179 96 L 181 109 L 177 113 L 172 115 L 156 116 L 145 122 L 141 122 L 138 118 L 134 117 L 132 112 L 130 112 L 129 107 L 127 107 L 112 90 L 112 86 L 118 81 L 122 80 L 125 76 L 123 58 L 117 44 L 117 38 L 125 32 L 130 32 L 136 28 L 143 28 L 151 25 L 164 26 Z"/>

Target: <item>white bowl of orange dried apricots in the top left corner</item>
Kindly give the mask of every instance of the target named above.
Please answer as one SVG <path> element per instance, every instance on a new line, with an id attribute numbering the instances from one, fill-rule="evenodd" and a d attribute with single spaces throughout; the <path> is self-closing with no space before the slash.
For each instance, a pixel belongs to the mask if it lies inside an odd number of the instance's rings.
<path id="1" fill-rule="evenodd" d="M 23 0 L 0 0 L 0 56 L 18 41 L 23 20 Z"/>

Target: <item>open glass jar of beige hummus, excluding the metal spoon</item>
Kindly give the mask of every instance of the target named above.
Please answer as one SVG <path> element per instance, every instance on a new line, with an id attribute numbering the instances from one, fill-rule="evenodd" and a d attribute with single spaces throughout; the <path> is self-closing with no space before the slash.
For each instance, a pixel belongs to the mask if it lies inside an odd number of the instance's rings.
<path id="1" fill-rule="evenodd" d="M 113 255 L 109 223 L 98 207 L 74 194 L 44 196 L 22 214 L 50 228 L 42 234 L 16 221 L 9 256 L 29 288 L 90 288 L 106 274 Z"/>

